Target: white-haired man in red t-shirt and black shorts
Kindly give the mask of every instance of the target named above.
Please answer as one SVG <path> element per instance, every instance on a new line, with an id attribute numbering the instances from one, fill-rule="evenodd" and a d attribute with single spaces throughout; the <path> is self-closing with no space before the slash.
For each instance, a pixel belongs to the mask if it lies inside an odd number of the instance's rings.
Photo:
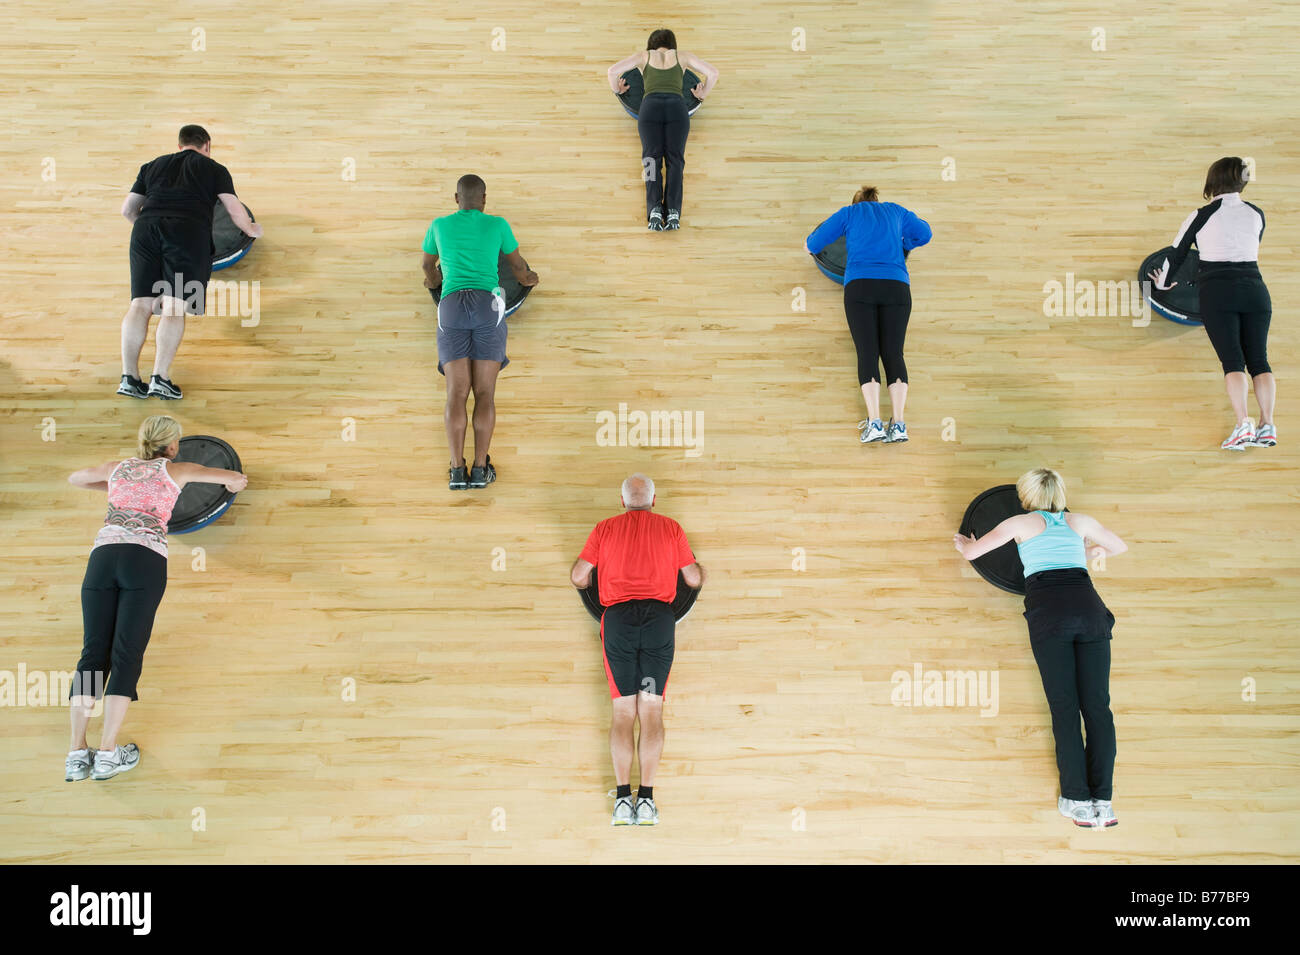
<path id="1" fill-rule="evenodd" d="M 696 590 L 705 582 L 705 570 L 681 525 L 651 512 L 654 481 L 645 474 L 624 481 L 623 507 L 624 513 L 595 525 L 569 579 L 584 590 L 592 583 L 592 569 L 601 568 L 601 643 L 614 699 L 610 755 L 619 786 L 611 825 L 658 825 L 654 776 L 663 755 L 663 693 L 672 669 L 677 570 Z M 640 741 L 633 738 L 637 717 Z M 633 806 L 632 754 L 637 748 L 641 782 Z"/>

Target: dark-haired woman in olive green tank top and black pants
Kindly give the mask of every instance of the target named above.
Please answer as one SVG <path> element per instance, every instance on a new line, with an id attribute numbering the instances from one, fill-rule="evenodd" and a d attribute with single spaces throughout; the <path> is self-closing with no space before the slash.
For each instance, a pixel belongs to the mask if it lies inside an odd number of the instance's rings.
<path id="1" fill-rule="evenodd" d="M 718 83 L 718 70 L 698 56 L 677 51 L 672 30 L 655 30 L 644 51 L 619 60 L 610 68 L 610 88 L 628 91 L 623 74 L 641 70 L 645 97 L 637 113 L 641 134 L 641 178 L 646 185 L 646 222 L 651 231 L 681 226 L 681 179 L 686 165 L 686 136 L 690 114 L 682 95 L 685 70 L 703 77 L 692 88 L 696 100 L 703 100 Z"/>

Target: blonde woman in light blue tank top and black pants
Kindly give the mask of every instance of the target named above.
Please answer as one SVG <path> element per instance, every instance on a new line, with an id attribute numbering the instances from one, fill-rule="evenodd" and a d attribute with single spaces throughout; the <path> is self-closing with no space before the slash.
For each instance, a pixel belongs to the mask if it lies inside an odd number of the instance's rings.
<path id="1" fill-rule="evenodd" d="M 1065 481 L 1036 468 L 1015 482 L 1028 513 L 1008 517 L 984 537 L 957 534 L 953 543 L 975 560 L 1015 541 L 1024 564 L 1024 620 L 1052 709 L 1061 815 L 1084 828 L 1118 825 L 1112 806 L 1115 720 L 1110 712 L 1110 631 L 1106 609 L 1088 576 L 1088 559 L 1128 550 L 1087 515 L 1066 513 Z M 1088 542 L 1092 542 L 1091 547 Z M 1079 719 L 1087 742 L 1079 733 Z"/>

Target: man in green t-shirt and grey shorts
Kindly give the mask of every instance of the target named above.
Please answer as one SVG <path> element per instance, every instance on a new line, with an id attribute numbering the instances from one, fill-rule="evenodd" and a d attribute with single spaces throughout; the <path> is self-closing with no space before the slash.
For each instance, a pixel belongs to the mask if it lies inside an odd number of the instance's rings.
<path id="1" fill-rule="evenodd" d="M 506 256 L 515 281 L 534 286 L 510 223 L 484 212 L 488 188 L 477 175 L 456 181 L 458 210 L 429 223 L 424 236 L 424 285 L 442 286 L 438 301 L 438 372 L 447 378 L 443 422 L 451 447 L 447 486 L 486 487 L 497 479 L 488 446 L 497 426 L 497 374 L 506 357 L 506 301 L 498 290 L 499 260 Z M 474 392 L 474 463 L 465 468 L 465 405 Z"/>

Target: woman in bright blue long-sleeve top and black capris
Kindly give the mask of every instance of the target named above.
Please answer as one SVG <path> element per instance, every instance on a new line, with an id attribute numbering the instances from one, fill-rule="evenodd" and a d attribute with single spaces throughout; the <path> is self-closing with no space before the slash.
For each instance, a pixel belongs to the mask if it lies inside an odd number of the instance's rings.
<path id="1" fill-rule="evenodd" d="M 858 350 L 858 383 L 867 417 L 858 422 L 863 444 L 907 440 L 904 405 L 907 401 L 907 365 L 902 343 L 911 317 L 911 286 L 904 256 L 930 242 L 930 226 L 896 203 L 881 203 L 874 186 L 863 186 L 845 205 L 809 235 L 803 244 L 816 255 L 845 236 L 844 314 Z M 880 363 L 884 361 L 893 417 L 880 418 Z"/>

